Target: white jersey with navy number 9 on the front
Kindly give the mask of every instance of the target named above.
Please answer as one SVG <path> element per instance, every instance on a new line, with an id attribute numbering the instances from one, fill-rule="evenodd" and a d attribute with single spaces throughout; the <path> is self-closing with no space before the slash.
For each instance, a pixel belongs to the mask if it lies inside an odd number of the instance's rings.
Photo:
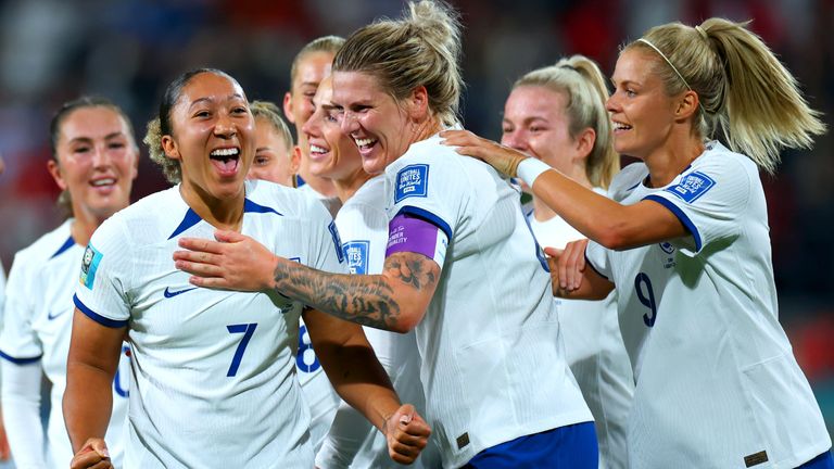
<path id="1" fill-rule="evenodd" d="M 768 213 L 756 165 L 718 142 L 666 187 L 643 163 L 612 199 L 669 208 L 691 237 L 621 252 L 589 244 L 619 286 L 637 380 L 630 467 L 794 468 L 831 447 L 779 324 Z"/>

